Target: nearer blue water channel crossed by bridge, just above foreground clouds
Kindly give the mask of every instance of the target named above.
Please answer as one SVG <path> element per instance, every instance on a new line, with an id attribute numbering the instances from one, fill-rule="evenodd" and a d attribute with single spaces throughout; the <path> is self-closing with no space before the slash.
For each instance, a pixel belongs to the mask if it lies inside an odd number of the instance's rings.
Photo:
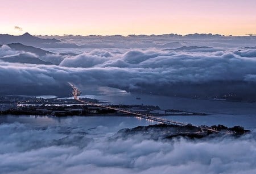
<path id="1" fill-rule="evenodd" d="M 253 115 L 206 115 L 206 116 L 168 116 L 162 117 L 177 122 L 192 123 L 193 125 L 225 125 L 228 127 L 243 126 L 246 129 L 256 129 L 256 117 Z M 104 126 L 112 127 L 112 131 L 137 126 L 154 125 L 158 122 L 139 117 L 53 117 L 53 116 L 27 116 L 7 115 L 0 117 L 1 123 L 25 123 L 35 127 L 44 126 L 78 126 L 84 129 Z"/>

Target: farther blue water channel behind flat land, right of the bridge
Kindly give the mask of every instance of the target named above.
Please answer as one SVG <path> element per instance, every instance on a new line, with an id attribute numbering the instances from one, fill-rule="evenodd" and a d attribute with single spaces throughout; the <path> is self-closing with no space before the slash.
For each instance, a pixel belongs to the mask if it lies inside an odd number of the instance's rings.
<path id="1" fill-rule="evenodd" d="M 84 95 L 114 105 L 157 105 L 161 109 L 176 109 L 209 114 L 256 115 L 256 103 L 228 102 L 212 100 L 196 100 L 191 98 L 166 97 L 141 94 L 141 100 L 136 100 L 138 94 L 127 95 Z M 72 98 L 72 97 L 70 97 Z"/>

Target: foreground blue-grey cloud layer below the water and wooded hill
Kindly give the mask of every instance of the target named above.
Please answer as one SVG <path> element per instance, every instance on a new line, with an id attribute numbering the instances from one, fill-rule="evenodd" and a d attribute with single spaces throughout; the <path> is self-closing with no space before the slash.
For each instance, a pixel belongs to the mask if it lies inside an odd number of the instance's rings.
<path id="1" fill-rule="evenodd" d="M 0 125 L 1 173 L 256 172 L 255 132 L 241 138 L 154 141 L 141 135 L 115 138 L 113 129 L 123 123 L 85 129 L 98 118 L 66 118 L 60 124 L 38 119 L 38 126 Z"/>

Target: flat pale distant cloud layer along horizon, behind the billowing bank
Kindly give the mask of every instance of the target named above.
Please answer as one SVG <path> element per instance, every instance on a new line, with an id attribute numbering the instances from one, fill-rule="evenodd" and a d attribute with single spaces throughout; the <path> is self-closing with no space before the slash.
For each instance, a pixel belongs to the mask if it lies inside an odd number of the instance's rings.
<path id="1" fill-rule="evenodd" d="M 139 36 L 40 36 L 47 39 L 59 39 L 62 48 L 179 48 L 182 46 L 208 46 L 222 48 L 255 47 L 256 37 L 224 37 L 213 35 L 139 35 Z M 66 45 L 65 45 L 66 44 Z M 44 45 L 49 48 L 49 45 Z M 57 45 L 56 45 L 57 46 Z M 66 46 L 66 47 L 65 47 Z M 69 47 L 68 47 L 69 46 Z M 61 47 L 57 47 L 61 48 Z"/>

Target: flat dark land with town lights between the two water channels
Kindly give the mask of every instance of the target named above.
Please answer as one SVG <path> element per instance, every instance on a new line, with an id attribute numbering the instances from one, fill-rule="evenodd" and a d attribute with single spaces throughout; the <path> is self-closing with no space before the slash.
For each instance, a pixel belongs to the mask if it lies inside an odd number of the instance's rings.
<path id="1" fill-rule="evenodd" d="M 162 110 L 159 106 L 150 105 L 109 105 L 91 98 L 81 98 L 83 101 L 107 105 L 133 113 L 152 115 L 155 117 L 168 115 L 206 115 L 182 110 Z M 107 109 L 94 105 L 83 105 L 79 101 L 65 98 L 36 98 L 27 96 L 5 96 L 0 97 L 0 114 L 2 115 L 55 115 L 55 116 L 122 116 L 129 114 L 113 109 Z"/>

